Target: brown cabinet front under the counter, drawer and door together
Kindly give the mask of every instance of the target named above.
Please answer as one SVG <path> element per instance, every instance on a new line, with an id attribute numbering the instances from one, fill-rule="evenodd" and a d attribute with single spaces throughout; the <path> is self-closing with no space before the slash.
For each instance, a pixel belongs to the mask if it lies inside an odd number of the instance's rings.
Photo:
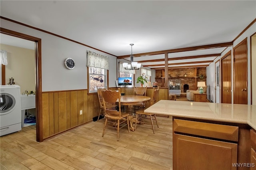
<path id="1" fill-rule="evenodd" d="M 238 127 L 173 119 L 173 169 L 236 170 Z"/>

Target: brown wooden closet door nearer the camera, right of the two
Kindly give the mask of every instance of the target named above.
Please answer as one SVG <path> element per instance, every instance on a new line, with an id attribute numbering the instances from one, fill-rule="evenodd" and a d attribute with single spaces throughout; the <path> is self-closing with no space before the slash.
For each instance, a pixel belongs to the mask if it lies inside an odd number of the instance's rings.
<path id="1" fill-rule="evenodd" d="M 234 47 L 234 104 L 248 103 L 247 38 Z"/>

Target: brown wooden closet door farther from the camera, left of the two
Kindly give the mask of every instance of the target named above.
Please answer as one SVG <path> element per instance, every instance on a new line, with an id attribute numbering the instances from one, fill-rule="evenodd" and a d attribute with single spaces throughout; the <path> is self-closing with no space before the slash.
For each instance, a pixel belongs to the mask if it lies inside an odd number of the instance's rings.
<path id="1" fill-rule="evenodd" d="M 231 51 L 221 59 L 221 103 L 232 103 L 231 93 Z"/>

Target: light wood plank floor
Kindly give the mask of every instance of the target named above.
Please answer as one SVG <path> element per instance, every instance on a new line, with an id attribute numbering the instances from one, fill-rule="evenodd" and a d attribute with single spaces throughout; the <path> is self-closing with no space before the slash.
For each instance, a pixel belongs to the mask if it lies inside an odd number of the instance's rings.
<path id="1" fill-rule="evenodd" d="M 35 126 L 0 137 L 1 170 L 172 170 L 172 117 L 157 117 L 159 128 L 138 125 L 130 133 L 102 130 L 104 119 L 36 142 Z"/>

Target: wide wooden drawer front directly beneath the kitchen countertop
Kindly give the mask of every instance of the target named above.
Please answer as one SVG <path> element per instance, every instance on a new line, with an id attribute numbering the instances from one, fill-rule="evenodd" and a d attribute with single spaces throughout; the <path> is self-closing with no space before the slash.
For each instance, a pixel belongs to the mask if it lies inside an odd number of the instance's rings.
<path id="1" fill-rule="evenodd" d="M 238 142 L 238 127 L 174 119 L 173 132 Z"/>

